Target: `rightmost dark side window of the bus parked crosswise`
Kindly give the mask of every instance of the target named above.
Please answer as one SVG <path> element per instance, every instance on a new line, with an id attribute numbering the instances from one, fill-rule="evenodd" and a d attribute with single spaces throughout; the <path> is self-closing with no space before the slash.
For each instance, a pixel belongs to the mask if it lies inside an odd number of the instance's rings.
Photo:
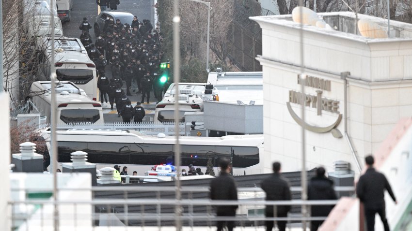
<path id="1" fill-rule="evenodd" d="M 259 163 L 259 149 L 257 147 L 216 146 L 215 165 L 219 165 L 221 158 L 232 159 L 234 168 L 246 168 Z"/>

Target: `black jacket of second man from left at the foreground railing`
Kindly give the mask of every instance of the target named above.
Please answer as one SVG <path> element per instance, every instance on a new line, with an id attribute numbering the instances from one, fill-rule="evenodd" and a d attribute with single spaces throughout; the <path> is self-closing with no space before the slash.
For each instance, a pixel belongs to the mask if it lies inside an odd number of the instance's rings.
<path id="1" fill-rule="evenodd" d="M 267 201 L 290 201 L 289 182 L 281 177 L 279 173 L 273 173 L 261 183 L 261 188 L 266 192 Z M 286 215 L 289 212 L 290 206 L 277 206 L 278 215 Z M 265 214 L 267 217 L 273 216 L 273 206 L 266 206 Z"/>

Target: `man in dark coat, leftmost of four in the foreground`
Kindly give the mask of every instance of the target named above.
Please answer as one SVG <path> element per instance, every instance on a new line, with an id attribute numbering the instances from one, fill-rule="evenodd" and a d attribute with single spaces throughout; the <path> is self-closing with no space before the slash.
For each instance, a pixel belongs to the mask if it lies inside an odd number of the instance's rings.
<path id="1" fill-rule="evenodd" d="M 230 162 L 228 159 L 221 159 L 219 166 L 221 167 L 220 176 L 210 182 L 210 199 L 212 200 L 238 200 L 238 189 L 236 182 L 230 172 Z M 235 217 L 238 205 L 220 205 L 216 206 L 216 215 L 223 217 Z M 235 221 L 218 221 L 218 231 L 222 231 L 226 224 L 228 231 L 232 231 L 235 227 Z"/>

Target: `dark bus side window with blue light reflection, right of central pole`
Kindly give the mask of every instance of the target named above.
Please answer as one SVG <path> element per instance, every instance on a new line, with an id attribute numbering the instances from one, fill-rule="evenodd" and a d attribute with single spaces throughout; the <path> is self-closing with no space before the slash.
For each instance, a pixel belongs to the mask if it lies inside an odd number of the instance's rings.
<path id="1" fill-rule="evenodd" d="M 182 166 L 193 164 L 194 166 L 206 167 L 207 159 L 214 159 L 215 146 L 206 145 L 180 145 Z"/>

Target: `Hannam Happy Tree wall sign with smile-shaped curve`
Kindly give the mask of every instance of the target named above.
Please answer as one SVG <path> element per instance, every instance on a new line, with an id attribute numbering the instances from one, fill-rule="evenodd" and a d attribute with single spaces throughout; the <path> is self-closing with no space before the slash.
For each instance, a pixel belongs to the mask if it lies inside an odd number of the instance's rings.
<path id="1" fill-rule="evenodd" d="M 313 87 L 322 90 L 331 90 L 331 81 L 323 80 L 317 77 L 307 76 L 304 82 L 304 86 Z M 302 81 L 298 76 L 298 84 L 301 85 Z M 322 97 L 322 90 L 317 90 L 317 95 L 305 94 L 299 91 L 289 90 L 289 100 L 286 102 L 287 110 L 292 118 L 298 123 L 301 127 L 306 130 L 310 130 L 317 133 L 331 132 L 332 135 L 336 138 L 341 138 L 342 133 L 336 129 L 342 120 L 342 114 L 339 113 L 339 101 L 330 100 Z M 322 111 L 331 112 L 338 114 L 337 119 L 329 126 L 319 127 L 306 123 L 303 121 L 292 109 L 290 103 L 296 103 L 303 105 L 305 107 L 311 107 L 317 109 L 317 115 L 322 115 Z"/>

